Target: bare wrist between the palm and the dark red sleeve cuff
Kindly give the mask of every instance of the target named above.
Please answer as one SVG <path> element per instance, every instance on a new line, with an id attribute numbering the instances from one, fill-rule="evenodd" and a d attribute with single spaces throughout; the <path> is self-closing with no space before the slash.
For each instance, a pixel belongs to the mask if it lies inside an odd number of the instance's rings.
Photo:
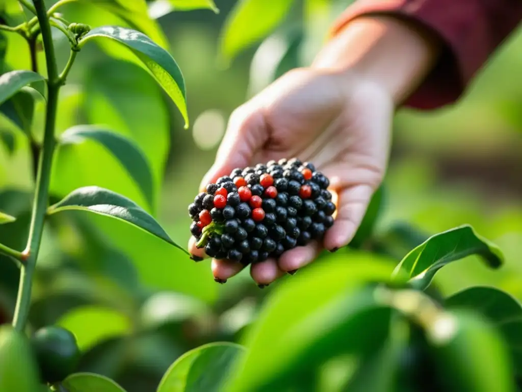
<path id="1" fill-rule="evenodd" d="M 429 74 L 439 53 L 436 38 L 406 21 L 364 16 L 329 40 L 312 67 L 378 85 L 399 106 Z"/>

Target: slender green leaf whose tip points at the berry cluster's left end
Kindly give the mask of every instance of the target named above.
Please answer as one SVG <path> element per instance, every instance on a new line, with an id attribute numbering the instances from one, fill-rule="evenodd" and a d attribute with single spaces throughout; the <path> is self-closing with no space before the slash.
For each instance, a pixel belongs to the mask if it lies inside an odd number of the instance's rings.
<path id="1" fill-rule="evenodd" d="M 61 211 L 90 211 L 111 216 L 131 223 L 146 232 L 174 245 L 185 253 L 188 252 L 174 243 L 156 220 L 140 206 L 126 197 L 99 187 L 84 187 L 69 193 L 62 201 L 49 207 L 49 214 Z"/>

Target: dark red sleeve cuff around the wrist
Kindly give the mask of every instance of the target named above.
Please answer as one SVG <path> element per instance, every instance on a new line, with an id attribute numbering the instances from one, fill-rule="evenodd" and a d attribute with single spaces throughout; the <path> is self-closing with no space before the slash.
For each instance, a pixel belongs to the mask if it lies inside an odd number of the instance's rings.
<path id="1" fill-rule="evenodd" d="M 362 15 L 390 15 L 419 23 L 442 39 L 433 72 L 405 102 L 433 109 L 455 102 L 488 57 L 518 25 L 522 0 L 358 0 L 336 20 L 332 34 Z"/>

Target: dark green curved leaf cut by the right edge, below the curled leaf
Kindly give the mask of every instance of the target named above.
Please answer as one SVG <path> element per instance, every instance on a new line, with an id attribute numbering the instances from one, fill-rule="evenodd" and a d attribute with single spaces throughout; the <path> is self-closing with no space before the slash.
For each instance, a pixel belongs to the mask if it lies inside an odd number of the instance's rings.
<path id="1" fill-rule="evenodd" d="M 507 342 L 522 377 L 522 306 L 514 297 L 494 287 L 471 287 L 447 298 L 445 307 L 474 310 L 487 318 Z"/>

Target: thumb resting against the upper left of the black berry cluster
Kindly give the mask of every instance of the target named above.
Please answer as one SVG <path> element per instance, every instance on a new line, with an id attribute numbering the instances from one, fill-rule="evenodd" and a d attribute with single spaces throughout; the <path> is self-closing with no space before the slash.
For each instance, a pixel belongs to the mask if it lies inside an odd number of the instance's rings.
<path id="1" fill-rule="evenodd" d="M 201 180 L 200 191 L 205 191 L 209 183 L 229 175 L 233 169 L 250 165 L 254 154 L 263 147 L 267 139 L 268 127 L 259 107 L 243 105 L 234 110 L 219 145 L 216 160 Z"/>

